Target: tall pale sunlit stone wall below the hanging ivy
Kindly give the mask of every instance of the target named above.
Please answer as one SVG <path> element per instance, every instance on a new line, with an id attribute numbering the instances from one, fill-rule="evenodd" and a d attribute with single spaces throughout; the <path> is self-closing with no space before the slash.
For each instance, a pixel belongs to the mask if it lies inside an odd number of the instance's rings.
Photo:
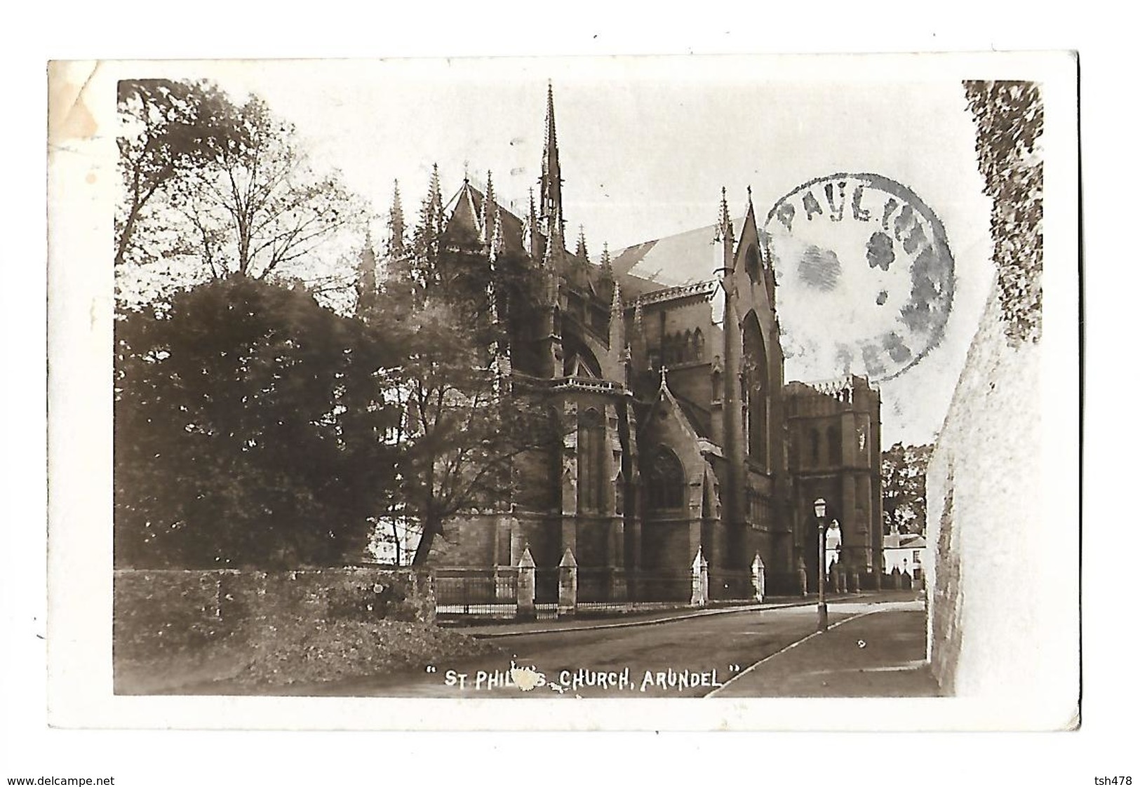
<path id="1" fill-rule="evenodd" d="M 947 693 L 1075 713 L 1078 522 L 1041 503 L 1041 346 L 1007 341 L 1001 309 L 995 291 L 927 472 L 930 658 Z"/>

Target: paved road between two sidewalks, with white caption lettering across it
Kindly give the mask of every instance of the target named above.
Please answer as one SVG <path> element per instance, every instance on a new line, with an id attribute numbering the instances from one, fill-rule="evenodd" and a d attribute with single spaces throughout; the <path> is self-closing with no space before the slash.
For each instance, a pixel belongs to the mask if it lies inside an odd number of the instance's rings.
<path id="1" fill-rule="evenodd" d="M 890 609 L 840 602 L 831 623 Z M 287 693 L 352 697 L 703 697 L 815 631 L 814 606 L 732 611 L 628 628 L 526 634 L 502 652 L 427 672 L 291 687 Z M 839 628 L 838 631 L 842 631 Z M 512 672 L 512 662 L 522 671 Z M 534 683 L 523 691 L 520 685 Z"/>

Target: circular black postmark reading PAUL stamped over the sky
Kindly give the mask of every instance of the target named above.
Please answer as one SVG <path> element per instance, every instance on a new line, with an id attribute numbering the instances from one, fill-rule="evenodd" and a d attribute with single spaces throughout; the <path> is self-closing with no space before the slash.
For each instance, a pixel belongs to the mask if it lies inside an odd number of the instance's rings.
<path id="1" fill-rule="evenodd" d="M 814 376 L 898 376 L 942 341 L 954 259 L 942 221 L 881 175 L 838 173 L 768 212 L 785 358 Z"/>

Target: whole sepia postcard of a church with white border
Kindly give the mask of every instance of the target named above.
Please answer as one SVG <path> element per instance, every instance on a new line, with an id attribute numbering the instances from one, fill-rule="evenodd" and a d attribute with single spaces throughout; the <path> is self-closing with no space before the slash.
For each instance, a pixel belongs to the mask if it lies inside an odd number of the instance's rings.
<path id="1" fill-rule="evenodd" d="M 49 83 L 63 725 L 1080 727 L 1072 54 Z"/>

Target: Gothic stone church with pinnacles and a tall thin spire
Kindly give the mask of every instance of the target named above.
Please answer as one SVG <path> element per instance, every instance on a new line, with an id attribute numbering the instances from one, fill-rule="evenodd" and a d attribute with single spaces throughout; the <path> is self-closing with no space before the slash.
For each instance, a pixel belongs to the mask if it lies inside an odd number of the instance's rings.
<path id="1" fill-rule="evenodd" d="M 491 190 L 464 180 L 443 243 L 480 250 L 492 273 L 521 260 L 540 281 L 498 365 L 540 394 L 561 445 L 524 457 L 496 505 L 449 522 L 430 565 L 508 569 L 529 550 L 542 576 L 569 553 L 584 600 L 668 600 L 700 554 L 717 599 L 750 594 L 759 555 L 768 592 L 793 593 L 805 575 L 815 587 L 823 497 L 847 569 L 878 577 L 878 392 L 860 378 L 784 383 L 751 195 L 742 219 L 722 195 L 715 227 L 596 261 L 579 235 L 571 252 L 553 94 L 537 200 L 515 216 Z M 645 273 L 666 258 L 684 279 Z"/>

